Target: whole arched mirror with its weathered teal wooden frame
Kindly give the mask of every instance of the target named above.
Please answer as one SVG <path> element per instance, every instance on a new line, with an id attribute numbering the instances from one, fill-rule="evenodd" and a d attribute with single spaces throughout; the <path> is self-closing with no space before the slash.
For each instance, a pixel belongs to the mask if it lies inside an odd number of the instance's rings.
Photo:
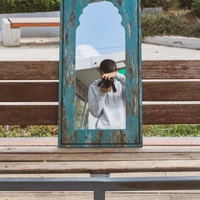
<path id="1" fill-rule="evenodd" d="M 139 0 L 61 1 L 59 147 L 142 147 L 140 36 Z"/>

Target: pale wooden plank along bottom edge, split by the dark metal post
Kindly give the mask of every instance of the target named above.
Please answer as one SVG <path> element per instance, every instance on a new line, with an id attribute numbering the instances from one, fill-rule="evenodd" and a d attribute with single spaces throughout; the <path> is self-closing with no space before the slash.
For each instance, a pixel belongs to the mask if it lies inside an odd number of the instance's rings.
<path id="1" fill-rule="evenodd" d="M 67 198 L 66 198 L 67 197 Z M 0 192 L 0 200 L 93 200 L 93 192 Z M 185 191 L 132 191 L 106 192 L 106 200 L 198 200 L 200 192 Z"/>

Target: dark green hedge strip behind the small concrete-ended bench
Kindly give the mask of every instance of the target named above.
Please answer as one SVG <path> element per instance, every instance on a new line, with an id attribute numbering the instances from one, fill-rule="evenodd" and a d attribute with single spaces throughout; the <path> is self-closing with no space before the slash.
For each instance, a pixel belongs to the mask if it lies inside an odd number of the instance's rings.
<path id="1" fill-rule="evenodd" d="M 59 11 L 60 0 L 1 0 L 0 13 Z"/>

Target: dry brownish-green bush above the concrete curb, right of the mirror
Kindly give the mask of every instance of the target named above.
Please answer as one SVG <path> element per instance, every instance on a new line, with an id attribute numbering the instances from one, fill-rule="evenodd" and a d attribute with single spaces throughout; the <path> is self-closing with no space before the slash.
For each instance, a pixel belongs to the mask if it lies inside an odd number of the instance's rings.
<path id="1" fill-rule="evenodd" d="M 145 36 L 177 35 L 200 37 L 200 22 L 187 19 L 177 13 L 144 15 L 142 17 L 142 34 Z"/>

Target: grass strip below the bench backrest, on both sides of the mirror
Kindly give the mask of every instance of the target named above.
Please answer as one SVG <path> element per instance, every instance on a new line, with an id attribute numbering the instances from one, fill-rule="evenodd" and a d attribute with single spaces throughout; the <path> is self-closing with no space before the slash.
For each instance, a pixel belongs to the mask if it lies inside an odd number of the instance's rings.
<path id="1" fill-rule="evenodd" d="M 57 137 L 57 126 L 0 126 L 0 137 Z M 144 137 L 199 137 L 200 125 L 144 125 Z"/>

